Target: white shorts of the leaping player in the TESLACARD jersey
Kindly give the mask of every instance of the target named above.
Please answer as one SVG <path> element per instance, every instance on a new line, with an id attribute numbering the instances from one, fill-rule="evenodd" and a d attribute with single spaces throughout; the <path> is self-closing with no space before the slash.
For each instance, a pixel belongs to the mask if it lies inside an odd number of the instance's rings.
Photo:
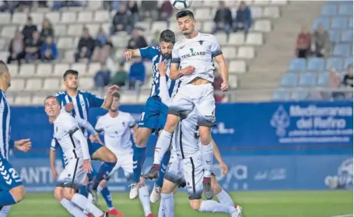
<path id="1" fill-rule="evenodd" d="M 195 108 L 199 126 L 216 125 L 214 87 L 211 83 L 179 87 L 169 106 L 169 113 L 184 119 Z"/>

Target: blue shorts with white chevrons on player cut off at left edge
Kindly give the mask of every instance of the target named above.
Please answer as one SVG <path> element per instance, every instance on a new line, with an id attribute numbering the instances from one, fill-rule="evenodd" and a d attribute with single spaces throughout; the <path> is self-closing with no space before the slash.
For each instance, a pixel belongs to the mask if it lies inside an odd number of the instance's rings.
<path id="1" fill-rule="evenodd" d="M 0 157 L 0 187 L 3 191 L 22 186 L 22 179 L 12 167 L 10 162 Z"/>

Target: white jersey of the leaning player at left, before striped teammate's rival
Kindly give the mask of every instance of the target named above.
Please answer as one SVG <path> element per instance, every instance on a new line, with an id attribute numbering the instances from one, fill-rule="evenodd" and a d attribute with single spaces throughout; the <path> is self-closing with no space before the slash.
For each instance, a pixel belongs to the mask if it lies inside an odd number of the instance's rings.
<path id="1" fill-rule="evenodd" d="M 81 132 L 77 120 L 65 109 L 62 109 L 53 123 L 54 137 L 63 149 L 65 158 L 68 161 L 74 158 L 89 159 L 87 140 Z"/>

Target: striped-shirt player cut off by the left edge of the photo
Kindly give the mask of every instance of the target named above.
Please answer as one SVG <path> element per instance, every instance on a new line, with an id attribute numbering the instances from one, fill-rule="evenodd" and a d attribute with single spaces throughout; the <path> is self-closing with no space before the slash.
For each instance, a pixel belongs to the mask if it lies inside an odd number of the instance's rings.
<path id="1" fill-rule="evenodd" d="M 17 204 L 25 198 L 25 186 L 16 170 L 8 162 L 8 153 L 11 148 L 27 152 L 32 146 L 30 139 L 13 141 L 10 138 L 11 121 L 10 106 L 6 102 L 5 92 L 11 86 L 11 76 L 5 62 L 0 60 L 0 208 L 4 207 L 3 216 L 6 216 L 11 204 Z"/>

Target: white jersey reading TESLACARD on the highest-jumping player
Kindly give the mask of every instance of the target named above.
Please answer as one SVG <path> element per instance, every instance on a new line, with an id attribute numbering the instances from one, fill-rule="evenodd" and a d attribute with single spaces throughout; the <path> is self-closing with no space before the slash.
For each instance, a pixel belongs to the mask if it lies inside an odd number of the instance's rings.
<path id="1" fill-rule="evenodd" d="M 195 71 L 187 76 L 181 76 L 181 85 L 190 83 L 199 77 L 214 82 L 213 57 L 221 55 L 220 45 L 216 37 L 211 34 L 198 33 L 195 38 L 184 38 L 178 41 L 172 50 L 171 63 L 177 63 L 181 69 L 194 66 Z"/>

